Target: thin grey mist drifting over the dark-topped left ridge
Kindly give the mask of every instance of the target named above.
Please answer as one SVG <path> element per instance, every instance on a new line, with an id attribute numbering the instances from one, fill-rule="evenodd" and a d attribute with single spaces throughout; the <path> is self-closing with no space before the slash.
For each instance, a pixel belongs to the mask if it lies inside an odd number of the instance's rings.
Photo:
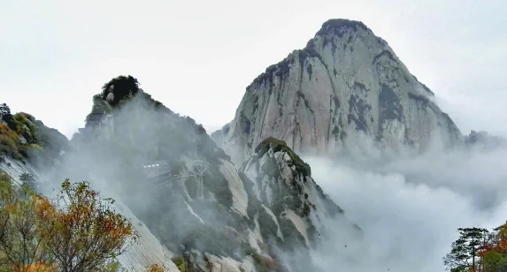
<path id="1" fill-rule="evenodd" d="M 230 220 L 228 214 L 193 195 L 194 177 L 154 184 L 143 165 L 169 162 L 173 174 L 181 174 L 192 170 L 192 160 L 213 156 L 216 145 L 191 118 L 154 106 L 140 96 L 115 110 L 114 123 L 93 132 L 75 133 L 61 162 L 40 171 L 44 177 L 41 193 L 53 196 L 52 189 L 65 178 L 88 181 L 104 198 L 117 200 L 120 212 L 128 208 L 125 214 L 134 214 L 173 253 L 180 253 L 185 244 L 211 251 L 210 237 L 203 228 L 223 230 Z M 211 185 L 220 187 L 219 183 L 211 184 L 211 169 L 204 175 L 205 193 L 214 192 L 208 190 Z M 138 226 L 134 224 L 134 228 Z M 194 240 L 196 233 L 199 236 Z"/>

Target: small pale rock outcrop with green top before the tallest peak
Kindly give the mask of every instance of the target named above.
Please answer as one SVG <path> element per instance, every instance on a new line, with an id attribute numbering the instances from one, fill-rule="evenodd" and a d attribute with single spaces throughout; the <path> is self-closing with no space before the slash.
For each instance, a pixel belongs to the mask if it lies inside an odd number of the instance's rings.
<path id="1" fill-rule="evenodd" d="M 260 222 L 265 239 L 276 238 L 282 246 L 317 246 L 326 237 L 324 220 L 346 221 L 342 208 L 311 178 L 310 166 L 281 140 L 263 140 L 240 173 L 250 196 L 249 216 Z M 352 224 L 350 229 L 361 233 Z"/>

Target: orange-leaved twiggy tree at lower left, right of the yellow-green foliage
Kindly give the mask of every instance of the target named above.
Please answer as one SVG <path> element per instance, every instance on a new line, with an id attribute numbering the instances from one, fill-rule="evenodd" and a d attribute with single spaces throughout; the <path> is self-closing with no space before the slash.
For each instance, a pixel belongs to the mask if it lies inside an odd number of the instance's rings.
<path id="1" fill-rule="evenodd" d="M 41 198 L 41 238 L 60 271 L 103 271 L 138 238 L 132 223 L 88 182 L 62 183 L 54 200 Z"/>

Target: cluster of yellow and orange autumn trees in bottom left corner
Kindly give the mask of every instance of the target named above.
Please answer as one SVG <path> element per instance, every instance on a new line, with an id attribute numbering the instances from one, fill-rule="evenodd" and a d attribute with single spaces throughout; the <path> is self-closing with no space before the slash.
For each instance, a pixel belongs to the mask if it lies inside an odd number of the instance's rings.
<path id="1" fill-rule="evenodd" d="M 88 182 L 58 196 L 20 192 L 0 173 L 0 271 L 106 271 L 138 238 Z"/>

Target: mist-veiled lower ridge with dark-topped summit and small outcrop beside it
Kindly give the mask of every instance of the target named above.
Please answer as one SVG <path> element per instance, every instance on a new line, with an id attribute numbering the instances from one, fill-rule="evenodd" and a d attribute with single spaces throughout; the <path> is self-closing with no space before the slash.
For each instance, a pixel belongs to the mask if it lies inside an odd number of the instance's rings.
<path id="1" fill-rule="evenodd" d="M 24 144 L 22 130 L 2 129 L 0 137 L 19 147 L 38 143 L 26 136 L 33 142 Z M 30 135 L 47 131 L 34 126 Z M 150 264 L 169 271 L 319 271 L 311 250 L 336 227 L 330 222 L 362 234 L 284 141 L 259 142 L 236 170 L 202 125 L 154 100 L 134 77 L 106 83 L 85 127 L 48 150 L 44 165 L 7 150 L 0 170 L 17 185 L 20 175 L 31 174 L 41 193 L 64 178 L 88 180 L 117 200 L 141 235 L 119 257 L 128 271 Z"/>

